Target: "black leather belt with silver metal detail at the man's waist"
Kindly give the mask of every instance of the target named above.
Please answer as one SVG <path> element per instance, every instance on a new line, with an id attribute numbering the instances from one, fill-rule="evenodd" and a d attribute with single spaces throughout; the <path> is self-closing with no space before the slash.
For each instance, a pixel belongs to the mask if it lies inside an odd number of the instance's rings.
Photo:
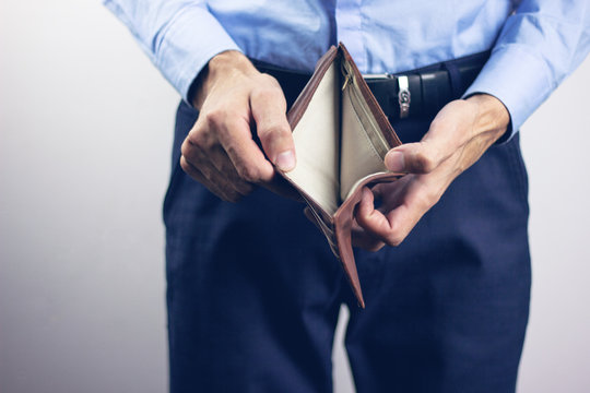
<path id="1" fill-rule="evenodd" d="M 489 51 L 485 51 L 396 74 L 365 74 L 364 78 L 390 121 L 432 118 L 447 103 L 461 97 L 488 58 Z M 279 81 L 288 106 L 311 76 L 257 60 L 252 62 L 259 71 Z"/>

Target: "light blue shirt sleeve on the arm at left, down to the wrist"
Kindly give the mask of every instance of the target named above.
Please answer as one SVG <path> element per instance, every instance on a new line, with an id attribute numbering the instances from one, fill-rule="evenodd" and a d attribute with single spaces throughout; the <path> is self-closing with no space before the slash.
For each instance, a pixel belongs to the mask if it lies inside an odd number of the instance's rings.
<path id="1" fill-rule="evenodd" d="M 188 100 L 188 91 L 215 55 L 239 50 L 204 1 L 104 0 L 143 51 Z"/>

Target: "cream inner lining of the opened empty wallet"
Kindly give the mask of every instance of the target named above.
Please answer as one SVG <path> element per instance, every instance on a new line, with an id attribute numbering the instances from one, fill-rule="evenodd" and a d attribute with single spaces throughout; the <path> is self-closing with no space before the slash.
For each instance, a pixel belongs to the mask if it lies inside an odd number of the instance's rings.
<path id="1" fill-rule="evenodd" d="M 321 79 L 293 130 L 297 166 L 285 174 L 329 215 L 359 180 L 387 171 L 389 145 L 346 66 L 337 58 Z"/>

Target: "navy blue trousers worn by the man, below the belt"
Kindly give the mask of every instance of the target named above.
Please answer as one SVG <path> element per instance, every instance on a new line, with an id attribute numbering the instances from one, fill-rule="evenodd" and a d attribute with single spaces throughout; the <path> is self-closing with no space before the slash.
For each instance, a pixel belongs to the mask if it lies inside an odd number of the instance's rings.
<path id="1" fill-rule="evenodd" d="M 341 303 L 359 393 L 514 392 L 530 297 L 518 138 L 495 145 L 397 248 L 356 251 L 357 308 L 303 205 L 263 189 L 222 202 L 178 166 L 164 204 L 172 392 L 331 392 Z M 394 123 L 416 141 L 429 120 Z"/>

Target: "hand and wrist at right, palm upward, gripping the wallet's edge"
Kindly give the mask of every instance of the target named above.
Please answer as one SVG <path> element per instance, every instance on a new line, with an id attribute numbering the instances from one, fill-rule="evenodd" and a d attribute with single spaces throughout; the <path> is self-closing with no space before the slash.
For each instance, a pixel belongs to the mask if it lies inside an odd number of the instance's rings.
<path id="1" fill-rule="evenodd" d="M 356 211 L 353 243 L 376 251 L 398 246 L 449 184 L 497 141 L 509 123 L 506 107 L 489 95 L 446 105 L 421 142 L 389 151 L 390 171 L 408 172 L 392 183 L 365 188 Z M 381 205 L 375 209 L 375 196 Z"/>

